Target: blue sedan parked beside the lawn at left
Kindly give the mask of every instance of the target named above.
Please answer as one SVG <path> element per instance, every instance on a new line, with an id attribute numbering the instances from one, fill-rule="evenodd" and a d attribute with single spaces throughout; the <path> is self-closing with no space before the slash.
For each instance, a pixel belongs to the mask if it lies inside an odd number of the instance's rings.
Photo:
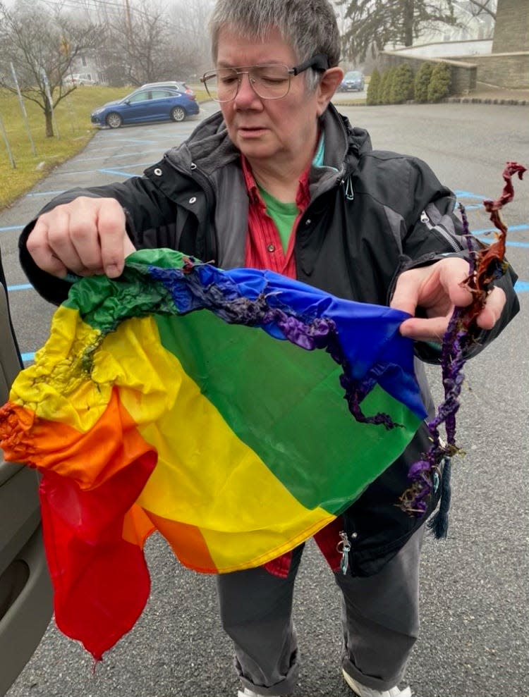
<path id="1" fill-rule="evenodd" d="M 128 123 L 148 121 L 183 121 L 199 112 L 195 95 L 180 92 L 174 87 L 140 87 L 123 99 L 109 101 L 90 114 L 98 126 L 119 128 Z"/>

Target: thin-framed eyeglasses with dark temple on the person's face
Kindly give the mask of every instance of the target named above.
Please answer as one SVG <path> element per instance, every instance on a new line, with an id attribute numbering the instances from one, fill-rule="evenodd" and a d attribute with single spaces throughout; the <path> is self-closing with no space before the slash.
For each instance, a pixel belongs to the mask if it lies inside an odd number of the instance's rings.
<path id="1" fill-rule="evenodd" d="M 309 58 L 299 66 L 288 68 L 281 63 L 263 64 L 260 66 L 241 66 L 241 68 L 219 68 L 208 70 L 200 78 L 207 90 L 209 97 L 214 101 L 224 102 L 235 99 L 243 75 L 248 75 L 248 80 L 257 97 L 261 99 L 281 99 L 286 97 L 290 90 L 292 75 L 299 75 L 308 68 L 314 70 L 327 70 L 329 58 L 325 54 L 317 54 Z"/>

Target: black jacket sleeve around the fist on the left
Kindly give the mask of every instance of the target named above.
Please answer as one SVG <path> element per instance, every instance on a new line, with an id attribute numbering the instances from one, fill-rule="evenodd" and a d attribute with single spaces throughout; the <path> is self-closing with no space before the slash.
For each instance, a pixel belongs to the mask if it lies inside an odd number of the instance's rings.
<path id="1" fill-rule="evenodd" d="M 25 226 L 18 241 L 20 264 L 26 276 L 39 295 L 54 304 L 61 304 L 66 300 L 71 283 L 39 269 L 28 252 L 26 243 L 39 216 L 80 196 L 117 199 L 125 211 L 128 236 L 137 249 L 174 247 L 176 244 L 176 240 L 171 239 L 171 231 L 174 232 L 175 226 L 171 228 L 169 225 L 169 221 L 176 219 L 176 206 L 148 178 L 133 177 L 123 183 L 63 192 L 51 199 L 36 218 Z"/>

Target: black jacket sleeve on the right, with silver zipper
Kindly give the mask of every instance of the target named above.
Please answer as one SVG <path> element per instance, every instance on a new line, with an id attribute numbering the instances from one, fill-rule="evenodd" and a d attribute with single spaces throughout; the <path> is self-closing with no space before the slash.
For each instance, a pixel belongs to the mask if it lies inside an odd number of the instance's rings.
<path id="1" fill-rule="evenodd" d="M 477 251 L 485 247 L 476 238 L 463 235 L 463 225 L 454 212 L 454 193 L 439 183 L 427 164 L 418 159 L 410 159 L 408 187 L 408 201 L 413 201 L 413 206 L 406 211 L 407 219 L 404 216 L 406 225 L 403 231 L 401 264 L 391 283 L 389 297 L 393 295 L 396 280 L 403 271 L 434 264 L 445 257 L 468 259 L 471 250 Z M 517 278 L 509 264 L 504 276 L 495 281 L 494 285 L 505 292 L 505 307 L 490 331 L 476 328 L 473 341 L 466 351 L 467 358 L 482 351 L 518 313 L 520 306 L 514 291 Z M 438 363 L 440 360 L 439 346 L 430 343 L 416 342 L 415 353 L 426 362 Z"/>

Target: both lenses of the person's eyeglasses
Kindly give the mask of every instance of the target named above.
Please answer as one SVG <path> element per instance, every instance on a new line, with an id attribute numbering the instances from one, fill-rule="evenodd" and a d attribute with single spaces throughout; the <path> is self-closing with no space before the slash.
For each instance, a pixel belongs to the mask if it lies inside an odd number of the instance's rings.
<path id="1" fill-rule="evenodd" d="M 205 78 L 209 97 L 215 101 L 231 101 L 243 80 L 248 75 L 255 94 L 262 99 L 281 99 L 288 94 L 290 73 L 286 66 L 252 66 L 248 70 L 221 68 Z"/>

